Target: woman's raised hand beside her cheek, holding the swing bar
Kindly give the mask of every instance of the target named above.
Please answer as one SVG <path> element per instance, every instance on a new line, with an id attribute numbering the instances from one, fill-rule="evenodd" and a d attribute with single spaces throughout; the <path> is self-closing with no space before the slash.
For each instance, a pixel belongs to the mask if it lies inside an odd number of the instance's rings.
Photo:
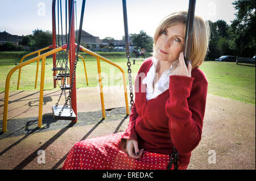
<path id="1" fill-rule="evenodd" d="M 181 75 L 181 76 L 191 77 L 191 70 L 192 70 L 191 62 L 190 61 L 188 62 L 188 67 L 187 67 L 184 61 L 184 54 L 183 52 L 181 52 L 179 56 L 179 65 L 172 72 L 172 75 Z"/>

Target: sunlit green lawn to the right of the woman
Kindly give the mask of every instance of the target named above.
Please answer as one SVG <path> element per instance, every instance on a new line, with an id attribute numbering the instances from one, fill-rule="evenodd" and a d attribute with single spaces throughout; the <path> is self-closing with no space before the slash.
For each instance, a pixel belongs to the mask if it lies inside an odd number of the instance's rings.
<path id="1" fill-rule="evenodd" d="M 204 62 L 208 93 L 255 105 L 255 64 Z"/>

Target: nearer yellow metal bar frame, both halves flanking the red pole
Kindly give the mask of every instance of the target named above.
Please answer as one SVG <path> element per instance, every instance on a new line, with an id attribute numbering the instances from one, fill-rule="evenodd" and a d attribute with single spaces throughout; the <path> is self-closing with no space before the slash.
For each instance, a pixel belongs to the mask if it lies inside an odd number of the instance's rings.
<path id="1" fill-rule="evenodd" d="M 128 105 L 128 99 L 127 99 L 127 87 L 126 87 L 126 79 L 125 79 L 125 72 L 123 71 L 123 69 L 115 64 L 114 62 L 84 48 L 84 47 L 80 47 L 81 50 L 83 52 L 86 52 L 94 57 L 97 58 L 97 66 L 98 66 L 98 77 L 99 77 L 99 85 L 100 85 L 100 95 L 101 95 L 101 107 L 102 107 L 102 117 L 106 117 L 105 116 L 105 106 L 104 106 L 104 96 L 103 96 L 103 90 L 102 90 L 102 78 L 101 78 L 101 67 L 100 67 L 100 60 L 103 60 L 105 62 L 108 62 L 109 64 L 117 67 L 121 72 L 122 72 L 122 76 L 123 76 L 123 88 L 125 91 L 125 104 L 126 104 L 126 113 L 127 115 L 129 115 L 129 105 Z M 28 64 L 31 64 L 32 62 L 38 61 L 40 59 L 42 59 L 42 70 L 41 70 L 41 80 L 40 80 L 40 95 L 39 95 L 39 112 L 38 112 L 38 127 L 40 128 L 42 126 L 42 113 L 43 113 L 43 91 L 44 91 L 44 74 L 45 74 L 45 68 L 46 68 L 46 57 L 50 56 L 51 54 L 54 54 L 56 52 L 59 52 L 63 50 L 62 47 L 53 49 L 49 52 L 46 52 L 44 54 L 41 54 L 37 57 L 31 58 L 30 60 L 26 61 L 26 62 L 22 62 L 21 64 L 15 66 L 13 69 L 11 69 L 9 71 L 9 73 L 7 74 L 6 77 L 6 82 L 5 82 L 5 102 L 3 104 L 3 125 L 2 125 L 2 132 L 6 132 L 7 131 L 7 113 L 8 113 L 8 103 L 9 103 L 9 88 L 10 88 L 10 79 L 11 79 L 11 75 L 13 75 L 14 71 L 16 71 L 17 69 L 20 69 L 23 66 L 26 66 Z M 42 50 L 41 50 L 42 51 Z M 24 58 L 23 58 L 24 59 Z M 85 64 L 84 64 L 85 66 Z M 86 75 L 87 77 L 87 75 Z"/>

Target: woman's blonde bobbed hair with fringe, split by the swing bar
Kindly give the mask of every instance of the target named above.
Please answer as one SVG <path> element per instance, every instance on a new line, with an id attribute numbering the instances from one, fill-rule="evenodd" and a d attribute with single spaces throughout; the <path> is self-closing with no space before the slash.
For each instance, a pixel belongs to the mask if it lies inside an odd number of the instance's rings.
<path id="1" fill-rule="evenodd" d="M 170 26 L 174 26 L 176 24 L 186 24 L 187 21 L 187 11 L 179 11 L 172 13 L 166 18 L 164 18 L 159 26 L 156 28 L 154 34 L 154 54 L 155 54 L 155 44 L 158 37 L 161 35 L 165 28 Z M 185 37 L 185 26 L 184 26 L 184 37 Z M 208 53 L 208 44 L 210 37 L 210 29 L 208 22 L 205 22 L 203 18 L 200 16 L 196 16 L 194 18 L 193 24 L 193 37 L 192 37 L 192 47 L 191 47 L 191 63 L 192 69 L 198 68 L 201 64 L 203 64 L 205 56 Z"/>

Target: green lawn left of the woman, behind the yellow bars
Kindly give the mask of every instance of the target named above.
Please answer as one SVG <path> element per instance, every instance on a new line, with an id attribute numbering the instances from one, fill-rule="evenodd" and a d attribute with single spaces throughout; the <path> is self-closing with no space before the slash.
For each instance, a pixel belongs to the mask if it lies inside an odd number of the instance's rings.
<path id="1" fill-rule="evenodd" d="M 121 66 L 123 71 L 126 73 L 126 83 L 128 85 L 128 73 L 127 73 L 127 58 L 108 58 L 110 61 L 115 62 Z M 132 61 L 132 60 L 131 60 Z M 19 60 L 14 59 L 0 59 L 0 92 L 5 91 L 5 81 L 6 76 L 9 71 L 15 67 L 15 62 L 19 62 Z M 137 61 L 135 65 L 131 62 L 131 70 L 134 77 L 136 76 L 141 64 L 143 61 Z M 53 77 L 52 77 L 52 58 L 47 58 L 46 60 L 46 73 L 45 73 L 45 81 L 44 81 L 44 90 L 53 89 Z M 96 58 L 85 58 L 85 66 L 86 72 L 88 75 L 88 83 L 90 87 L 98 86 L 98 69 L 97 69 L 97 61 Z M 16 85 L 18 82 L 18 70 L 14 72 L 10 81 L 10 91 L 16 90 Z M 40 89 L 40 72 L 41 72 L 41 62 L 39 64 L 38 71 L 38 83 L 37 89 Z M 110 65 L 104 61 L 101 61 L 101 74 L 102 74 L 102 83 L 103 86 L 114 86 L 114 85 L 123 85 L 122 74 L 121 71 L 113 65 Z M 22 73 L 20 76 L 20 85 L 19 90 L 34 90 L 35 85 L 35 75 L 36 75 L 36 62 L 33 62 L 30 65 L 24 66 L 22 68 Z M 86 87 L 86 79 L 85 79 L 85 71 L 84 64 L 81 59 L 77 64 L 76 70 L 76 86 Z M 55 88 L 56 90 L 59 88 Z"/>

